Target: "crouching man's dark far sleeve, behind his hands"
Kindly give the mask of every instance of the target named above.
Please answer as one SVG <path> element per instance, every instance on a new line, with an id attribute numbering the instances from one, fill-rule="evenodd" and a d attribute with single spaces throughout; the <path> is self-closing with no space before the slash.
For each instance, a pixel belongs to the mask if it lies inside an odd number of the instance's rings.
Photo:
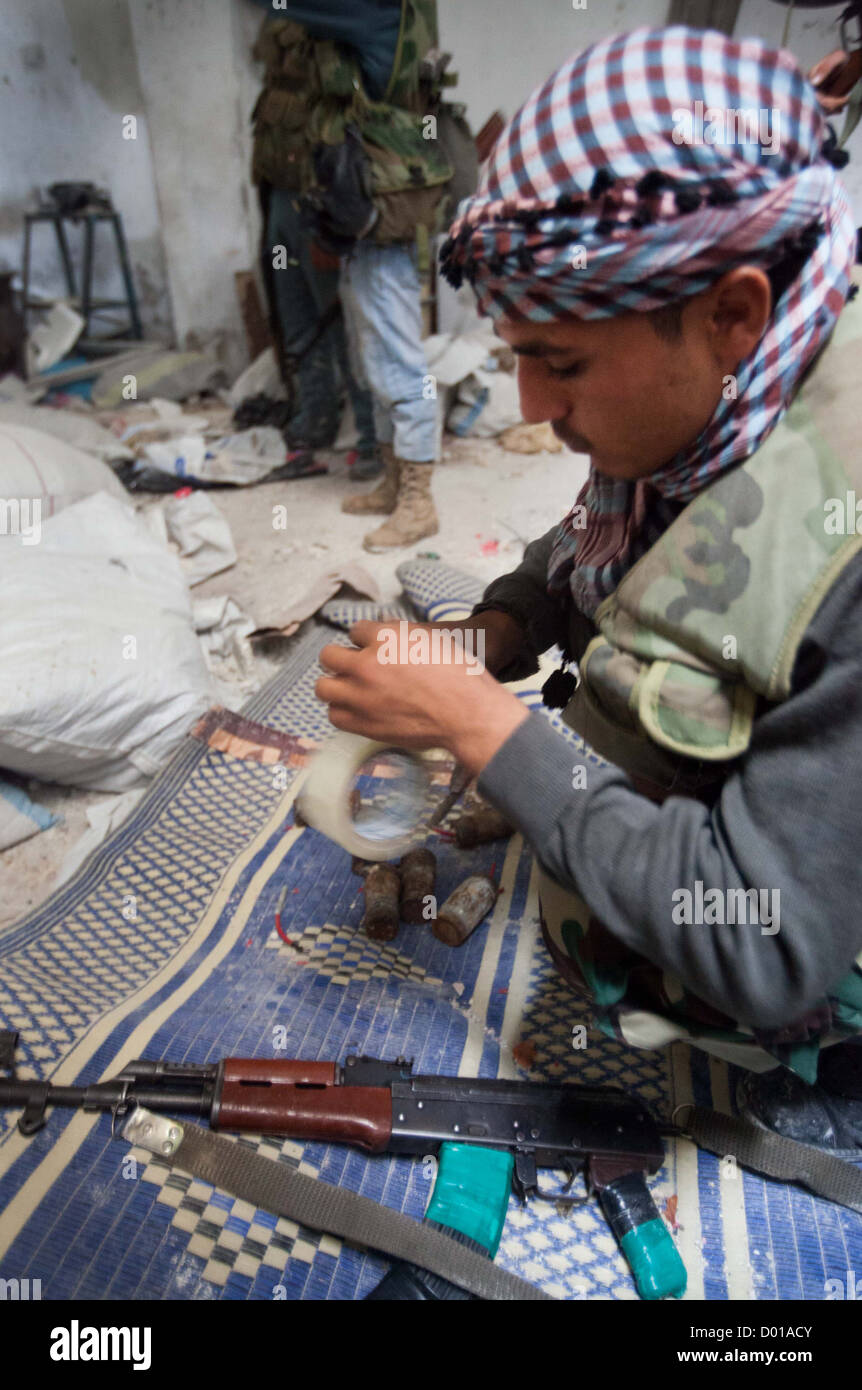
<path id="1" fill-rule="evenodd" d="M 538 541 L 531 541 L 524 559 L 512 574 L 494 580 L 473 609 L 484 613 L 495 609 L 507 613 L 524 628 L 524 645 L 517 657 L 499 671 L 501 681 L 519 681 L 538 671 L 538 657 L 549 646 L 566 641 L 566 610 L 546 591 L 548 559 L 559 524 L 552 525 Z"/>

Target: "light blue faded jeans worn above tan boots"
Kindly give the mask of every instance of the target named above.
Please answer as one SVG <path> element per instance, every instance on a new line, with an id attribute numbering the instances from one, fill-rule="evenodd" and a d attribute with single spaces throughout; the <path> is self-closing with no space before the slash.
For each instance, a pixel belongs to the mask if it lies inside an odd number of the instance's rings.
<path id="1" fill-rule="evenodd" d="M 374 427 L 399 459 L 434 463 L 437 400 L 423 348 L 413 246 L 359 242 L 342 263 L 341 297 L 353 367 L 374 396 Z"/>

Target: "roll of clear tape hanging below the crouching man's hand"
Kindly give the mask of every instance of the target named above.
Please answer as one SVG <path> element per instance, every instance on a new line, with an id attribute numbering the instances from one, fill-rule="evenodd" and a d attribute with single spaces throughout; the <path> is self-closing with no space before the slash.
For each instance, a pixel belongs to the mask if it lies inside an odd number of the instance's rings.
<path id="1" fill-rule="evenodd" d="M 392 778 L 380 806 L 361 806 L 355 816 L 350 794 L 373 758 L 387 755 L 400 776 Z M 359 859 L 398 859 L 412 847 L 427 815 L 427 755 L 359 734 L 335 734 L 314 755 L 298 802 L 303 820 Z"/>

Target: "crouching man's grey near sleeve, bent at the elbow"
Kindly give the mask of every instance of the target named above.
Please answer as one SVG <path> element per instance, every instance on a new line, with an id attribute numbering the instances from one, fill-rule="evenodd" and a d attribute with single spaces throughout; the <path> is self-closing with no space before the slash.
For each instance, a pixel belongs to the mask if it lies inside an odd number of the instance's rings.
<path id="1" fill-rule="evenodd" d="M 791 696 L 759 714 L 712 809 L 658 806 L 616 767 L 588 764 L 576 790 L 576 760 L 534 713 L 478 788 L 633 951 L 745 1024 L 798 1019 L 862 951 L 862 557 L 815 614 Z M 766 890 L 779 930 L 674 923 L 674 891 L 698 880 L 704 892 Z"/>

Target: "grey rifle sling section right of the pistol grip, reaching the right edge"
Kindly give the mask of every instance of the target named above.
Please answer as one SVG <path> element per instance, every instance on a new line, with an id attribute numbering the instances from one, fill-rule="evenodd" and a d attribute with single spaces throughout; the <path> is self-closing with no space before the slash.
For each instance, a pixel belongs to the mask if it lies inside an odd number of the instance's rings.
<path id="1" fill-rule="evenodd" d="M 801 1183 L 816 1197 L 862 1212 L 862 1169 L 843 1158 L 698 1105 L 690 1108 L 681 1127 L 710 1154 L 731 1154 L 741 1168 L 784 1183 Z"/>

